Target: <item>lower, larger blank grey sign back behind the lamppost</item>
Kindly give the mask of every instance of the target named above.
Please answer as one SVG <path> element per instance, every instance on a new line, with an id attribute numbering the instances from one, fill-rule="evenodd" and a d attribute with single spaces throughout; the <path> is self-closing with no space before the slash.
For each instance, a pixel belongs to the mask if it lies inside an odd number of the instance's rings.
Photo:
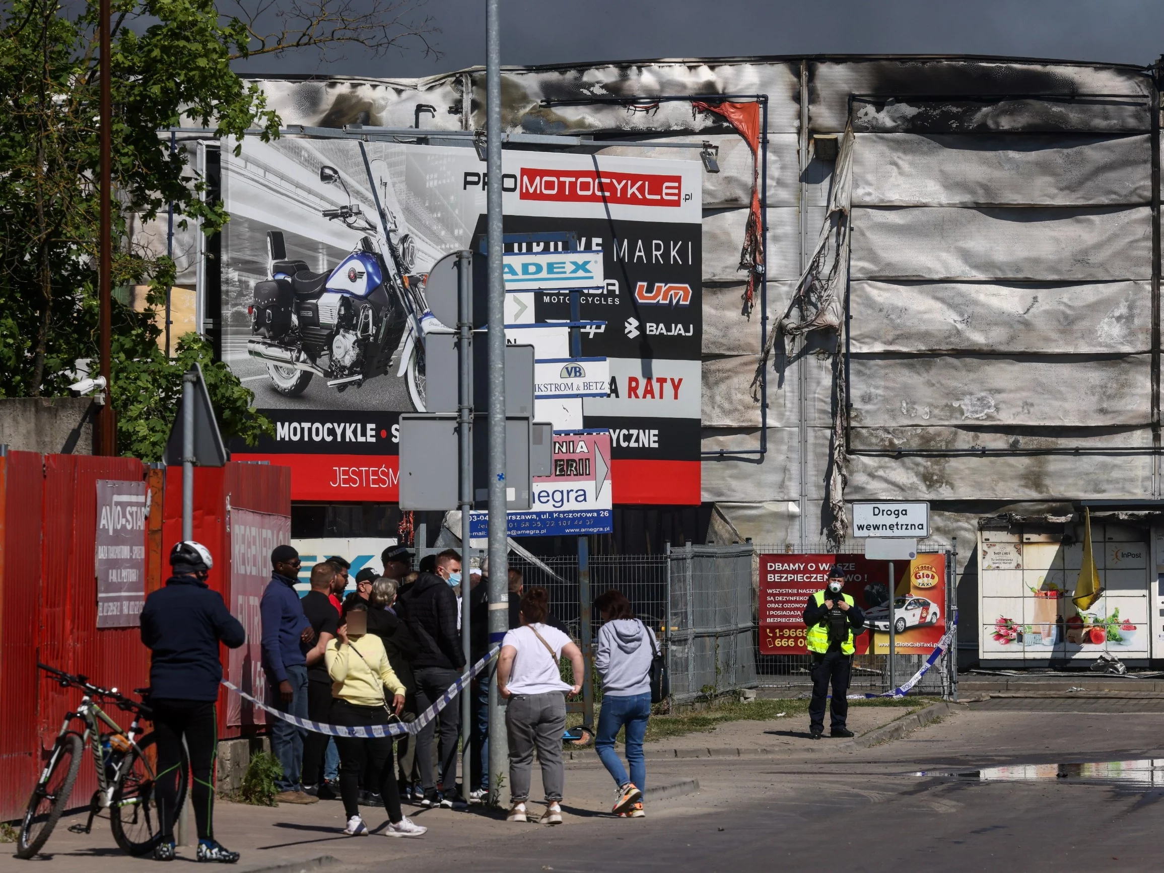
<path id="1" fill-rule="evenodd" d="M 489 508 L 489 419 L 476 416 L 473 436 L 474 509 Z M 530 509 L 532 423 L 527 417 L 505 419 L 506 509 Z M 545 438 L 544 438 L 545 439 Z M 540 447 L 539 447 L 540 448 Z M 402 510 L 454 510 L 460 505 L 456 416 L 400 416 L 399 504 Z"/>

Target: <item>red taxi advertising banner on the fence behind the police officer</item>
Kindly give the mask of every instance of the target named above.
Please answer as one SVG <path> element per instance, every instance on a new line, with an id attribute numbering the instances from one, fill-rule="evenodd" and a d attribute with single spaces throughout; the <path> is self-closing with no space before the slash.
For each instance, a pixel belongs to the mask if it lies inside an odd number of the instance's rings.
<path id="1" fill-rule="evenodd" d="M 845 572 L 845 594 L 865 612 L 858 654 L 889 650 L 888 561 L 858 554 L 760 555 L 760 654 L 805 654 L 802 613 L 824 588 L 835 565 Z M 945 633 L 945 555 L 922 554 L 894 566 L 897 654 L 929 654 Z"/>

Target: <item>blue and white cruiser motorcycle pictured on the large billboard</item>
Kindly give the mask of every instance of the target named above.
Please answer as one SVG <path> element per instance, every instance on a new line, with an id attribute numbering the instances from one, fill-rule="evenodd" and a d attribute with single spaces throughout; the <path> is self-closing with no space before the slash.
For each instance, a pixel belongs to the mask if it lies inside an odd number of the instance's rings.
<path id="1" fill-rule="evenodd" d="M 247 353 L 267 364 L 271 386 L 284 397 L 298 397 L 315 376 L 339 392 L 359 388 L 395 363 L 412 405 L 424 411 L 425 333 L 448 328 L 428 310 L 424 277 L 411 275 L 416 247 L 386 203 L 386 178 L 382 172 L 377 185 L 363 143 L 360 150 L 376 220 L 352 203 L 339 170 L 320 168 L 319 180 L 342 186 L 348 197 L 346 206 L 320 214 L 360 239 L 332 270 L 312 272 L 306 262 L 288 258 L 281 230 L 268 232 L 268 278 L 255 285 Z"/>

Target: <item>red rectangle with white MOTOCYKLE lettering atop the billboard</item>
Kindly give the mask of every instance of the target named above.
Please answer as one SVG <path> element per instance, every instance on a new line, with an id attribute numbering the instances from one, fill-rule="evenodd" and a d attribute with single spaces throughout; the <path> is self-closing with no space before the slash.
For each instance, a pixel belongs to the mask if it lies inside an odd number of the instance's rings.
<path id="1" fill-rule="evenodd" d="M 626 206 L 679 206 L 690 200 L 682 176 L 594 170 L 539 170 L 521 168 L 521 200 L 608 203 Z"/>

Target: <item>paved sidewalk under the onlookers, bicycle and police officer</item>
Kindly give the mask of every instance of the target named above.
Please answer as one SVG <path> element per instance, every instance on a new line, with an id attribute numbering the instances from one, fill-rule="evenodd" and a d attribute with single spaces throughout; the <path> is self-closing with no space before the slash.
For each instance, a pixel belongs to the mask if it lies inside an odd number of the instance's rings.
<path id="1" fill-rule="evenodd" d="M 853 708 L 850 710 L 850 725 L 857 732 L 866 732 L 907 714 L 908 710 L 901 708 Z M 823 743 L 829 744 L 830 740 Z M 730 753 L 726 750 L 731 750 Z M 388 817 L 382 808 L 361 810 L 368 826 L 374 830 L 371 836 L 348 837 L 342 833 L 346 818 L 338 800 L 274 808 L 220 800 L 215 805 L 214 830 L 215 837 L 225 846 L 242 853 L 242 860 L 234 867 L 239 873 L 312 873 L 314 870 L 322 872 L 361 867 L 382 870 L 385 861 L 406 865 L 411 861 L 411 868 L 427 870 L 426 865 L 439 861 L 445 852 L 489 853 L 489 846 L 499 840 L 508 845 L 518 840 L 548 849 L 555 840 L 565 838 L 566 833 L 577 838 L 577 829 L 584 829 L 595 839 L 611 839 L 622 838 L 619 835 L 627 833 L 627 828 L 644 826 L 644 822 L 653 822 L 652 828 L 667 826 L 666 822 L 659 819 L 688 814 L 693 807 L 707 809 L 710 797 L 700 799 L 698 780 L 717 778 L 714 761 L 707 761 L 693 773 L 690 766 L 694 761 L 684 762 L 676 758 L 715 758 L 721 754 L 734 757 L 740 754 L 739 750 L 746 750 L 744 754 L 785 757 L 803 753 L 814 757 L 814 752 L 822 750 L 822 745 L 821 741 L 808 738 L 805 715 L 766 722 L 730 722 L 712 731 L 651 743 L 647 748 L 646 819 L 619 819 L 611 815 L 613 780 L 592 750 L 584 750 L 575 752 L 573 760 L 567 760 L 566 800 L 562 803 L 565 822 L 558 828 L 532 823 L 510 824 L 504 821 L 503 810 L 481 807 L 470 807 L 462 812 L 405 804 L 406 816 L 428 826 L 428 833 L 424 837 L 388 837 L 383 832 Z M 704 755 L 702 752 L 709 754 Z M 502 796 L 504 801 L 509 801 L 508 788 L 502 789 Z M 535 817 L 542 809 L 541 778 L 537 762 L 533 767 L 531 797 L 531 814 Z M 85 816 L 81 814 L 62 818 L 34 861 L 17 860 L 10 854 L 12 846 L 0 846 L 0 873 L 27 873 L 36 868 L 68 873 L 133 873 L 156 870 L 157 863 L 149 858 L 128 858 L 122 854 L 109 832 L 107 817 L 93 823 L 91 835 L 69 831 L 70 825 L 84 821 Z M 192 828 L 192 816 L 190 823 Z M 178 873 L 193 861 L 193 854 L 192 846 L 179 847 L 178 860 L 175 863 Z M 33 867 L 29 867 L 30 864 Z"/>

